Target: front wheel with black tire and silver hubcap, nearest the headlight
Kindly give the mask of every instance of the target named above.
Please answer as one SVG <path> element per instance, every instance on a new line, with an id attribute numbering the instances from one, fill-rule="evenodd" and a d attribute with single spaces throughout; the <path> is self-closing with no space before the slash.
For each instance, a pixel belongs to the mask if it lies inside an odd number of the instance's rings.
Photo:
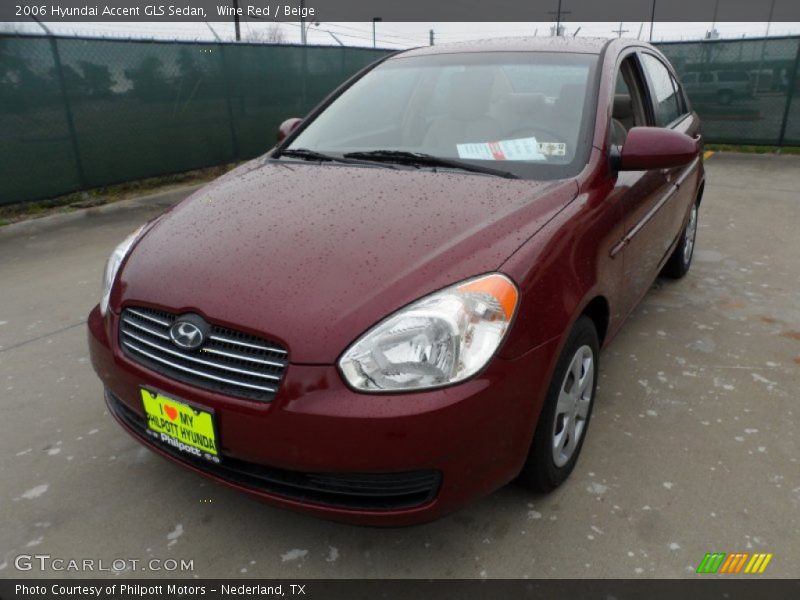
<path id="1" fill-rule="evenodd" d="M 518 478 L 523 486 L 537 492 L 552 491 L 575 468 L 592 416 L 599 356 L 597 329 L 591 319 L 582 316 L 558 357 L 530 453 Z M 576 369 L 580 369 L 577 379 Z M 585 383 L 576 388 L 576 381 Z"/>

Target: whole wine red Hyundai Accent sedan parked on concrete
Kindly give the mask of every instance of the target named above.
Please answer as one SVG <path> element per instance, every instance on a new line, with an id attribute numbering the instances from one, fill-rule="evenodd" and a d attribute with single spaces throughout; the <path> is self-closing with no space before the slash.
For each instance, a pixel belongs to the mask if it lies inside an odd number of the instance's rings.
<path id="1" fill-rule="evenodd" d="M 411 50 L 113 253 L 89 316 L 120 424 L 268 502 L 430 520 L 586 437 L 600 348 L 692 259 L 699 122 L 625 40 Z"/>

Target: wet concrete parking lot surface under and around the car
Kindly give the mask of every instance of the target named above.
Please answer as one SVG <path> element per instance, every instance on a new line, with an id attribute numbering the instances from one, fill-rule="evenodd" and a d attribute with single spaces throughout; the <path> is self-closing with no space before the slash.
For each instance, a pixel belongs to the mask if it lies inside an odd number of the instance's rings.
<path id="1" fill-rule="evenodd" d="M 692 270 L 656 282 L 604 352 L 572 477 L 404 529 L 250 500 L 108 414 L 84 327 L 101 269 L 185 192 L 1 232 L 0 577 L 92 575 L 18 571 L 20 554 L 193 561 L 137 577 L 696 577 L 706 552 L 773 553 L 762 577 L 796 577 L 800 160 L 707 170 Z"/>

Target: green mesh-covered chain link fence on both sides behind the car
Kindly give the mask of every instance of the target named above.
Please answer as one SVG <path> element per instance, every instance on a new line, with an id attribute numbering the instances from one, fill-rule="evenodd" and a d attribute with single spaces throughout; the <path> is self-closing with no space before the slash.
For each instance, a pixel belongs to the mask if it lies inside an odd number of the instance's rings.
<path id="1" fill-rule="evenodd" d="M 660 47 L 707 141 L 800 144 L 800 38 Z M 0 36 L 0 204 L 252 158 L 384 53 Z"/>

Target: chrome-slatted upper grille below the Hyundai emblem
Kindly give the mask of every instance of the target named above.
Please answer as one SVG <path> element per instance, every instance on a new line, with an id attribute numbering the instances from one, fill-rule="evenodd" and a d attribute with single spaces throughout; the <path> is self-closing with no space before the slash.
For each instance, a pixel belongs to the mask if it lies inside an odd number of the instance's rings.
<path id="1" fill-rule="evenodd" d="M 124 309 L 120 347 L 148 369 L 199 388 L 263 402 L 275 397 L 288 364 L 286 350 L 217 325 L 210 326 L 201 348 L 185 350 L 169 337 L 178 316 L 150 308 Z"/>

